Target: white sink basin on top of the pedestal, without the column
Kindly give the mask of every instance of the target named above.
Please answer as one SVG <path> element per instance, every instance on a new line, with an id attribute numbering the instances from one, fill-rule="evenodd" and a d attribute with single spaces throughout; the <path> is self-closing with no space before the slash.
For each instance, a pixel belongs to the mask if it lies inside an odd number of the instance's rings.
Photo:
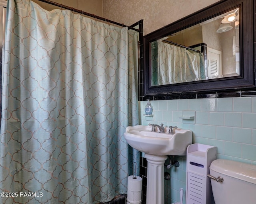
<path id="1" fill-rule="evenodd" d="M 152 132 L 151 126 L 129 126 L 124 138 L 138 151 L 152 155 L 186 155 L 188 145 L 192 144 L 192 131 L 173 129 L 174 134 Z M 158 129 L 158 128 L 156 128 Z"/>

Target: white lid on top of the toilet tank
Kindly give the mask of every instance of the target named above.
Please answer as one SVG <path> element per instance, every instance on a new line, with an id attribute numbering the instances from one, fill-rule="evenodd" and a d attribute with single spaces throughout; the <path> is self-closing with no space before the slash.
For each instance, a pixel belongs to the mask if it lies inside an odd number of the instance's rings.
<path id="1" fill-rule="evenodd" d="M 212 161 L 210 169 L 218 173 L 256 184 L 256 166 L 226 159 Z"/>

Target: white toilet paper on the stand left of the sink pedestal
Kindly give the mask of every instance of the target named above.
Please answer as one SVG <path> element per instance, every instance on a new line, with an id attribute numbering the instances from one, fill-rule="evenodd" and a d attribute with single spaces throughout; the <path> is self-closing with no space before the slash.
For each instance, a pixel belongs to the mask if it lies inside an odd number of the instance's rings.
<path id="1" fill-rule="evenodd" d="M 134 179 L 134 177 L 136 179 Z M 138 176 L 129 176 L 127 184 L 127 201 L 132 204 L 141 202 L 142 178 Z"/>

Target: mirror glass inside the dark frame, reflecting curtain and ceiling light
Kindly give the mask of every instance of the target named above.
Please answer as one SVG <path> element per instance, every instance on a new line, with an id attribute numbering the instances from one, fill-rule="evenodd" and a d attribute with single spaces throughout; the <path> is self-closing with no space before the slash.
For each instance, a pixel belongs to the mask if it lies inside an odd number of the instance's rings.
<path id="1" fill-rule="evenodd" d="M 150 44 L 152 86 L 239 76 L 239 9 Z"/>

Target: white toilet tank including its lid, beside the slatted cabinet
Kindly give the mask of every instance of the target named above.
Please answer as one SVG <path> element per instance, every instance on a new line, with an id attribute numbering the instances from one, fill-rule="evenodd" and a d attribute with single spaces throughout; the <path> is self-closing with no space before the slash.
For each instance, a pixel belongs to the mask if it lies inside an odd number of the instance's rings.
<path id="1" fill-rule="evenodd" d="M 215 204 L 256 203 L 255 165 L 216 159 L 210 165 L 210 175 L 223 178 L 223 182 L 211 179 Z"/>

